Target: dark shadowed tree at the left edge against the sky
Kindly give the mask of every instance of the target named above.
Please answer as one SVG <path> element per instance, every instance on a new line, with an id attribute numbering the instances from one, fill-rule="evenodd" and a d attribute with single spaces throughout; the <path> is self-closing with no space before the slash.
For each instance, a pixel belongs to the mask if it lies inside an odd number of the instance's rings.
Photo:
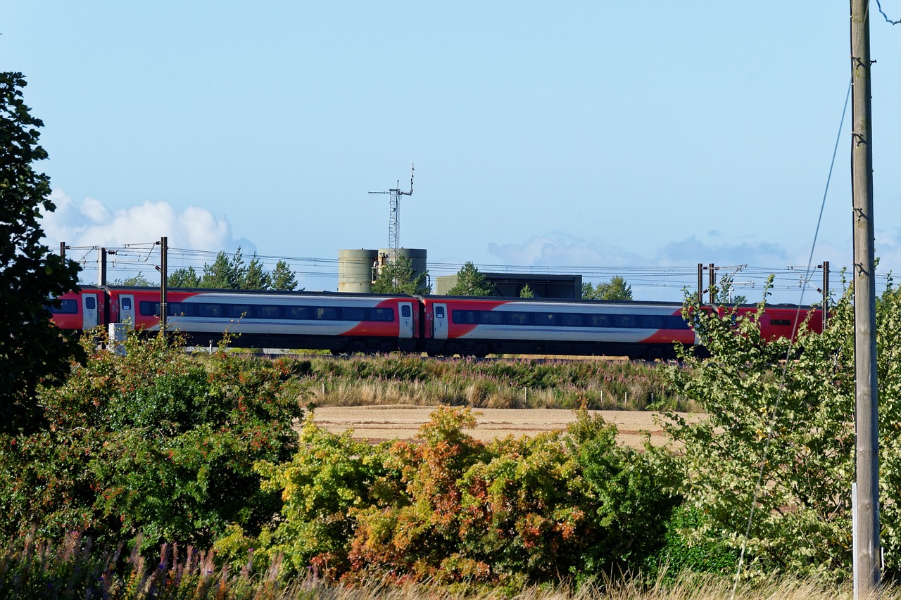
<path id="1" fill-rule="evenodd" d="M 0 73 L 0 431 L 34 431 L 43 414 L 39 382 L 60 382 L 69 360 L 83 358 L 77 340 L 50 322 L 50 298 L 77 289 L 73 260 L 50 253 L 38 218 L 56 206 L 50 177 L 32 163 L 47 158 L 43 126 L 23 102 L 22 73 Z M 51 304 L 59 306 L 59 303 Z"/>

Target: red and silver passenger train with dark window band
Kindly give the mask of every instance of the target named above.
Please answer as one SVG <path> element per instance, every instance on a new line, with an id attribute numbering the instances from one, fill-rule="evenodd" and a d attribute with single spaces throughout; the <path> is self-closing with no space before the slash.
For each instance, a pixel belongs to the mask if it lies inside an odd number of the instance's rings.
<path id="1" fill-rule="evenodd" d="M 62 329 L 128 323 L 159 330 L 159 288 L 94 287 L 63 295 L 52 318 Z M 189 343 L 216 343 L 224 332 L 242 348 L 343 352 L 402 350 L 430 355 L 555 354 L 675 358 L 677 343 L 696 345 L 682 305 L 537 298 L 339 294 L 172 289 L 167 327 Z M 740 311 L 756 311 L 742 306 Z M 819 309 L 771 305 L 760 318 L 764 339 L 792 336 Z"/>

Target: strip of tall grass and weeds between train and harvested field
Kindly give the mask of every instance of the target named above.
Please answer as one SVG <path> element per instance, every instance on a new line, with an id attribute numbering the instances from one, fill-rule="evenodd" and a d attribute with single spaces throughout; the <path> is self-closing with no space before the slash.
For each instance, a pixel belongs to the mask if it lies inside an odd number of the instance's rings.
<path id="1" fill-rule="evenodd" d="M 652 364 L 608 360 L 307 358 L 293 392 L 316 405 L 466 405 L 474 408 L 678 410 Z"/>

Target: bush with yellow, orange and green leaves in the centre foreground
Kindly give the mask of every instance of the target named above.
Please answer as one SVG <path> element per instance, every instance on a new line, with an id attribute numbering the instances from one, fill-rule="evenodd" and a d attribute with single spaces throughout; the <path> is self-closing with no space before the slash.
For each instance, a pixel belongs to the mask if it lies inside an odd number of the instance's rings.
<path id="1" fill-rule="evenodd" d="M 417 442 L 369 446 L 308 422 L 292 462 L 258 465 L 279 522 L 219 548 L 350 583 L 508 586 L 624 572 L 658 549 L 678 503 L 668 455 L 617 446 L 586 412 L 568 432 L 489 444 L 463 432 L 474 424 L 439 408 Z"/>

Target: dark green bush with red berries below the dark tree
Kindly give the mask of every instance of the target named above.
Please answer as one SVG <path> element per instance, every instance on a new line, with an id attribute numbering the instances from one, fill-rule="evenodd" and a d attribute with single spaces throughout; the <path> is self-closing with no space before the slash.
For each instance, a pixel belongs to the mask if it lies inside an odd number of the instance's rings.
<path id="1" fill-rule="evenodd" d="M 252 466 L 296 450 L 289 364 L 201 360 L 159 338 L 132 336 L 125 356 L 84 343 L 86 365 L 41 391 L 49 428 L 0 439 L 0 532 L 207 547 L 230 523 L 259 531 L 278 512 Z"/>

